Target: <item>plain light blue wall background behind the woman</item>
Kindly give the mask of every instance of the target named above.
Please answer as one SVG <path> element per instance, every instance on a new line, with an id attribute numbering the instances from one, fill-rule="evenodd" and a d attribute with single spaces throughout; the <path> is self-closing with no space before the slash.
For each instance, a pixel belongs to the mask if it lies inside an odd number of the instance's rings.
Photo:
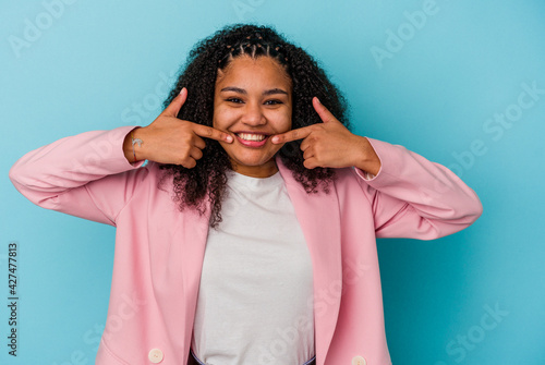
<path id="1" fill-rule="evenodd" d="M 482 218 L 452 236 L 378 242 L 393 364 L 545 364 L 545 172 L 538 148 L 545 133 L 545 3 L 47 5 L 59 1 L 0 4 L 1 364 L 94 363 L 114 239 L 113 228 L 33 206 L 11 185 L 10 167 L 66 135 L 147 125 L 192 45 L 238 22 L 274 25 L 319 59 L 351 105 L 355 133 L 450 167 L 482 199 Z M 417 16 L 423 10 L 425 21 Z M 525 87 L 541 92 L 532 98 Z M 495 113 L 513 121 L 501 125 Z M 16 358 L 8 356 L 3 304 L 13 241 L 20 246 Z M 500 315 L 483 325 L 489 311 Z"/>

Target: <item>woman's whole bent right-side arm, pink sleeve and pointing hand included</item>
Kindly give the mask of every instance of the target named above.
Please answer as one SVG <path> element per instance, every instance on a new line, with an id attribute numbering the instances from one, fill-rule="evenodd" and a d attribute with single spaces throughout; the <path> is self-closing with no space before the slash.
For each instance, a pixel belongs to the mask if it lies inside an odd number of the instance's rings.
<path id="1" fill-rule="evenodd" d="M 304 166 L 353 167 L 372 204 L 379 238 L 437 239 L 462 230 L 482 212 L 475 193 L 453 172 L 386 142 L 352 134 L 317 98 L 323 123 L 272 137 L 272 143 L 301 139 Z"/>

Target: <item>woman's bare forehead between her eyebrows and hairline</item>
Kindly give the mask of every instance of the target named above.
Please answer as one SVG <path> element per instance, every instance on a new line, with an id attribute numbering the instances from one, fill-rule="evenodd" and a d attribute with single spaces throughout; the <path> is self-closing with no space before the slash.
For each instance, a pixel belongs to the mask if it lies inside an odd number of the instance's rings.
<path id="1" fill-rule="evenodd" d="M 291 89 L 291 78 L 275 59 L 261 56 L 234 58 L 223 70 L 218 70 L 216 85 L 235 83 L 235 86 L 284 87 Z"/>

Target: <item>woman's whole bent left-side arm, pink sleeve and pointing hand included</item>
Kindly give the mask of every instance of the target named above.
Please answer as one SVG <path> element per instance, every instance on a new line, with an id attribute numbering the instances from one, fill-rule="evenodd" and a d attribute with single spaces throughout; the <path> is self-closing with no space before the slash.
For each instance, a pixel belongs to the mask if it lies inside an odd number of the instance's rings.
<path id="1" fill-rule="evenodd" d="M 225 132 L 178 119 L 186 96 L 183 88 L 145 127 L 87 132 L 31 151 L 12 167 L 10 179 L 44 208 L 114 226 L 149 172 L 137 169 L 144 160 L 193 168 L 206 146 L 202 137 L 232 142 Z M 133 135 L 144 141 L 142 145 L 133 146 Z"/>

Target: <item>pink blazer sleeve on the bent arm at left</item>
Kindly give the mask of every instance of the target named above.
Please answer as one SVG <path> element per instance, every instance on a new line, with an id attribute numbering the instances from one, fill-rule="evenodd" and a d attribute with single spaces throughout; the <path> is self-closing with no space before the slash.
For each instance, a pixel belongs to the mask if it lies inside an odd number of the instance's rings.
<path id="1" fill-rule="evenodd" d="M 134 126 L 93 131 L 35 149 L 10 170 L 15 188 L 34 204 L 116 226 L 116 218 L 145 178 L 144 162 L 130 163 L 125 135 Z"/>

